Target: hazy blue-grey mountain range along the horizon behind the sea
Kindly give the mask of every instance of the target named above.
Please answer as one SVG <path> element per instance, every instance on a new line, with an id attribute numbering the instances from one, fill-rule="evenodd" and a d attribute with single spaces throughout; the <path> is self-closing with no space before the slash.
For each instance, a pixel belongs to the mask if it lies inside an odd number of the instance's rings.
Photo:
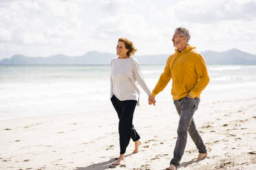
<path id="1" fill-rule="evenodd" d="M 202 56 L 206 64 L 256 64 L 256 55 L 230 49 L 228 51 L 203 51 Z M 166 64 L 170 54 L 135 56 L 140 64 Z M 23 65 L 23 64 L 109 64 L 111 58 L 116 58 L 114 53 L 100 53 L 90 51 L 83 56 L 65 56 L 58 54 L 50 57 L 29 57 L 14 55 L 12 58 L 0 60 L 1 65 Z"/>

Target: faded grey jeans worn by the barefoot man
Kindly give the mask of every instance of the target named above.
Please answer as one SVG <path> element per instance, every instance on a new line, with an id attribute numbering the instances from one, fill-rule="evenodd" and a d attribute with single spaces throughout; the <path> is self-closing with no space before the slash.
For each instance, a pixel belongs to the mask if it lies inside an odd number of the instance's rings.
<path id="1" fill-rule="evenodd" d="M 182 155 L 184 154 L 184 149 L 186 147 L 186 138 L 188 131 L 193 142 L 198 148 L 199 153 L 206 153 L 206 147 L 204 145 L 204 142 L 202 141 L 198 130 L 196 130 L 195 122 L 193 121 L 193 114 L 196 110 L 198 110 L 198 104 L 200 103 L 200 99 L 189 99 L 188 97 L 184 97 L 180 100 L 174 100 L 173 102 L 180 116 L 180 121 L 177 130 L 178 138 L 173 152 L 173 159 L 171 160 L 170 164 L 178 167 L 180 165 L 180 160 L 182 158 Z"/>

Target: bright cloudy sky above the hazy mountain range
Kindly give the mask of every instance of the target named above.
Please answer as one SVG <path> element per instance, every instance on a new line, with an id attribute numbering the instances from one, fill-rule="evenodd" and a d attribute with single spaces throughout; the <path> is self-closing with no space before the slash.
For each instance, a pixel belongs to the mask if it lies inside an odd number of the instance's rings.
<path id="1" fill-rule="evenodd" d="M 136 55 L 171 54 L 176 27 L 198 51 L 256 54 L 255 9 L 256 0 L 0 0 L 0 60 L 116 53 L 120 37 Z"/>

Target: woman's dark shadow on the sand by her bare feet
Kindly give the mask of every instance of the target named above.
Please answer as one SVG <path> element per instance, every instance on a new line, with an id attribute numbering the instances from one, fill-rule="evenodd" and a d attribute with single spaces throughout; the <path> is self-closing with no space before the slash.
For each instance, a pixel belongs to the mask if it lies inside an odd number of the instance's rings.
<path id="1" fill-rule="evenodd" d="M 131 156 L 132 154 L 126 155 Z M 99 162 L 96 164 L 89 165 L 88 167 L 76 167 L 74 170 L 104 170 L 104 169 L 114 169 L 118 166 L 112 165 L 112 163 L 117 160 L 118 158 L 111 158 L 110 160 L 107 160 L 105 162 Z"/>

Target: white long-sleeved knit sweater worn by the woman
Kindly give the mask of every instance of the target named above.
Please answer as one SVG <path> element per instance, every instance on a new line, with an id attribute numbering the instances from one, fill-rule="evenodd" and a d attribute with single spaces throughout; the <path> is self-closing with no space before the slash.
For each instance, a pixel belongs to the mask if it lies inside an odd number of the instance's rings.
<path id="1" fill-rule="evenodd" d="M 120 101 L 139 101 L 138 84 L 147 95 L 151 95 L 135 58 L 114 58 L 111 60 L 110 97 L 115 95 Z"/>

